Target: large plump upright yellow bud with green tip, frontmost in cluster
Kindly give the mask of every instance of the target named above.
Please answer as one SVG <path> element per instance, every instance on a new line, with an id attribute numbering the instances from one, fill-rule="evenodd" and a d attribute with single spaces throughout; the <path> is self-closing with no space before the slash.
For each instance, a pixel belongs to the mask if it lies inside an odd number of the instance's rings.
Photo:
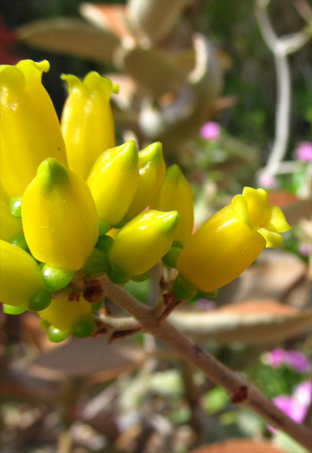
<path id="1" fill-rule="evenodd" d="M 34 257 L 44 263 L 78 270 L 98 238 L 98 218 L 85 181 L 46 159 L 22 200 L 25 239 Z"/>

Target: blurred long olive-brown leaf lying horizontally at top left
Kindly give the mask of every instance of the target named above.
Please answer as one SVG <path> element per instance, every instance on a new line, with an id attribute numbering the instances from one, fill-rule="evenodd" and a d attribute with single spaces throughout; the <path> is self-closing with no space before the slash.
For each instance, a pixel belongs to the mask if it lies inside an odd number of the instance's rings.
<path id="1" fill-rule="evenodd" d="M 19 27 L 25 44 L 52 52 L 74 55 L 97 63 L 112 62 L 119 38 L 80 19 L 42 19 Z"/>

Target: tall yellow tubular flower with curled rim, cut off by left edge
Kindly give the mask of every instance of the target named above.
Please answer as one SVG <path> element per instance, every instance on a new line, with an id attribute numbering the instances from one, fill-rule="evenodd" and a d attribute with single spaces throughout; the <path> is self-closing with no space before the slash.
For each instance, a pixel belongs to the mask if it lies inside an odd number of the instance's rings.
<path id="1" fill-rule="evenodd" d="M 65 145 L 52 101 L 41 83 L 47 60 L 1 66 L 1 183 L 21 196 L 47 157 L 66 165 Z"/>

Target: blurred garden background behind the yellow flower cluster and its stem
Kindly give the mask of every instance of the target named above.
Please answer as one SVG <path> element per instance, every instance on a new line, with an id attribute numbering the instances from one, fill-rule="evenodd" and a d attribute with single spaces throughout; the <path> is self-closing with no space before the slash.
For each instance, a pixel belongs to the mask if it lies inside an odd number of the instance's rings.
<path id="1" fill-rule="evenodd" d="M 3 0 L 1 8 L 1 63 L 48 59 L 43 84 L 59 115 L 62 72 L 96 70 L 119 84 L 117 144 L 163 142 L 166 163 L 179 164 L 192 186 L 195 228 L 245 185 L 264 187 L 282 207 L 293 227 L 282 247 L 265 250 L 216 298 L 195 296 L 170 319 L 312 425 L 311 2 Z M 270 30 L 284 55 L 265 42 Z M 154 283 L 126 287 L 148 304 Z M 202 453 L 235 453 L 246 442 L 250 453 L 306 451 L 148 335 L 55 345 L 35 314 L 1 313 L 1 324 L 2 453 L 200 445 Z"/>

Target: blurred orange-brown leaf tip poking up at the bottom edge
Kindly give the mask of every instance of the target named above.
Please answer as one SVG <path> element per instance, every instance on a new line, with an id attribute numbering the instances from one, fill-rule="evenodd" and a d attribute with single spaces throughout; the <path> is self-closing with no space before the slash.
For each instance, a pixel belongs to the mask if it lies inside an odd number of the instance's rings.
<path id="1" fill-rule="evenodd" d="M 227 439 L 201 445 L 189 453 L 286 453 L 269 440 Z"/>

